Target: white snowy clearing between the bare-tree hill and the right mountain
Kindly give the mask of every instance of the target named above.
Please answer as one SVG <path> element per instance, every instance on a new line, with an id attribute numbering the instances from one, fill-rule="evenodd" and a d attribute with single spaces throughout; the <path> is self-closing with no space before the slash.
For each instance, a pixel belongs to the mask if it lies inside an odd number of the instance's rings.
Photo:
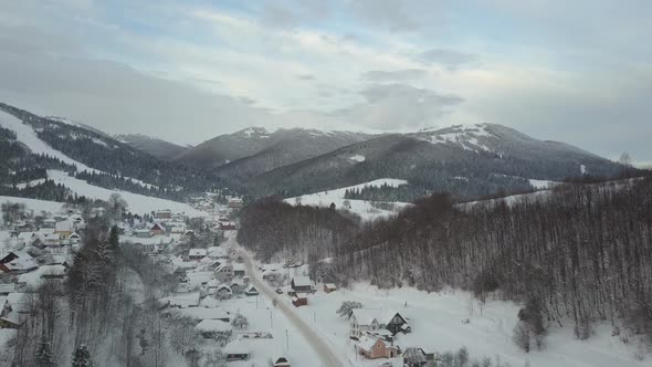
<path id="1" fill-rule="evenodd" d="M 368 200 L 350 200 L 345 199 L 345 191 L 351 189 L 362 189 L 364 187 L 380 187 L 382 185 L 388 185 L 391 187 L 398 187 L 400 185 L 406 185 L 408 181 L 401 179 L 393 179 L 393 178 L 383 178 L 378 179 L 360 185 L 343 187 L 335 190 L 322 191 L 316 193 L 303 195 L 299 197 L 294 197 L 290 199 L 285 199 L 285 202 L 290 205 L 302 205 L 302 206 L 312 206 L 312 207 L 324 207 L 327 208 L 330 203 L 335 203 L 335 207 L 344 210 L 348 210 L 360 216 L 364 220 L 374 220 L 377 218 L 390 217 L 403 208 L 409 206 L 407 202 L 374 202 Z"/>

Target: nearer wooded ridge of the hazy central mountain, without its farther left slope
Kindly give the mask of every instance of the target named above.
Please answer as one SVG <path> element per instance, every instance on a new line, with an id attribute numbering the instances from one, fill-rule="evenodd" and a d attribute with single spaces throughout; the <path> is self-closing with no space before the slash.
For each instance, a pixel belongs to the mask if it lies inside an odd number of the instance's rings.
<path id="1" fill-rule="evenodd" d="M 214 172 L 220 177 L 243 181 L 278 167 L 364 141 L 369 137 L 370 135 L 349 132 L 281 129 L 270 136 L 273 144 L 267 148 L 252 156 L 219 166 Z"/>

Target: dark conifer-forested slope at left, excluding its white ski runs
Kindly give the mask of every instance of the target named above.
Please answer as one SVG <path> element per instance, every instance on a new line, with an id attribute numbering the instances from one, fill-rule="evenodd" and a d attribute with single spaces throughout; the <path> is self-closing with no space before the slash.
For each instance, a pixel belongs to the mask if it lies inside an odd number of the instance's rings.
<path id="1" fill-rule="evenodd" d="M 17 141 L 10 144 L 15 140 L 15 136 L 7 130 L 0 138 L 3 149 L 8 149 L 8 157 L 9 154 L 14 158 L 17 155 L 21 157 L 12 160 L 13 171 L 39 168 L 44 174 L 45 169 L 63 169 L 92 185 L 176 200 L 182 200 L 191 193 L 225 187 L 214 176 L 182 164 L 164 161 L 81 125 L 40 117 L 6 104 L 0 104 L 0 111 L 29 125 L 38 138 L 53 149 L 93 168 L 85 170 L 72 165 L 61 167 L 51 157 L 30 154 L 29 147 Z M 7 176 L 8 172 L 8 169 L 3 169 L 0 175 Z M 4 182 L 11 184 L 7 179 Z"/>

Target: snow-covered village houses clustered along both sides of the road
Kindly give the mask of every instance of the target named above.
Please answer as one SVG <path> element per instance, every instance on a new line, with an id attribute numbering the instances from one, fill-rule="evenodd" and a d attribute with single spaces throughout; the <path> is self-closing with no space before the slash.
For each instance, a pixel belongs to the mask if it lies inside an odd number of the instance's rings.
<path id="1" fill-rule="evenodd" d="M 165 264 L 178 280 L 176 290 L 158 301 L 160 312 L 193 319 L 196 332 L 212 340 L 203 347 L 222 350 L 233 366 L 287 367 L 293 359 L 295 365 L 308 363 L 309 345 L 301 337 L 291 337 L 296 326 L 276 307 L 284 302 L 297 311 L 307 310 L 317 295 L 338 292 L 337 285 L 317 286 L 306 275 L 307 265 L 297 263 L 257 264 L 255 273 L 250 274 L 245 266 L 245 260 L 251 261 L 245 259 L 249 254 L 235 241 L 235 214 L 242 199 L 230 198 L 227 205 L 217 205 L 207 196 L 192 205 L 208 216 L 188 218 L 160 209 L 144 216 L 128 213 L 120 221 L 112 221 L 118 228 L 120 243 L 130 243 L 153 261 Z M 7 342 L 11 332 L 30 317 L 30 293 L 43 282 L 66 282 L 74 255 L 84 243 L 87 223 L 107 221 L 106 217 L 107 209 L 98 206 L 84 211 L 74 207 L 54 213 L 24 211 L 9 218 L 0 232 L 0 342 Z M 262 295 L 255 280 L 273 290 L 274 296 Z M 335 308 L 333 317 L 337 317 Z M 397 344 L 396 335 L 411 329 L 401 313 L 354 305 L 347 310 L 346 318 L 349 331 L 341 337 L 351 343 L 361 359 L 390 360 L 402 356 L 406 366 L 425 366 L 433 358 L 420 348 Z M 288 354 L 294 344 L 303 344 L 299 349 L 304 352 Z"/>

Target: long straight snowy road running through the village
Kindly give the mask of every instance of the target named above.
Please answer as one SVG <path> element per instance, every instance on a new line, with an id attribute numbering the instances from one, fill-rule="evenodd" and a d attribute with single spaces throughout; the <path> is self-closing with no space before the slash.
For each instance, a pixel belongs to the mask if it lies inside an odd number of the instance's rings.
<path id="1" fill-rule="evenodd" d="M 294 310 L 278 297 L 278 294 L 272 290 L 267 283 L 265 283 L 260 276 L 259 272 L 255 269 L 255 265 L 250 258 L 250 255 L 239 248 L 238 245 L 234 247 L 238 249 L 238 252 L 244 259 L 244 266 L 246 268 L 246 273 L 251 277 L 252 283 L 259 290 L 261 294 L 265 297 L 270 298 L 271 301 L 275 301 L 276 310 L 281 310 L 281 312 L 290 319 L 290 322 L 296 327 L 296 329 L 301 333 L 301 335 L 305 338 L 305 340 L 313 347 L 313 349 L 322 359 L 323 366 L 328 367 L 344 367 L 345 365 L 339 359 L 337 353 L 335 353 L 328 344 L 322 339 L 322 337 L 315 333 L 315 331 L 304 322 L 295 312 Z"/>

